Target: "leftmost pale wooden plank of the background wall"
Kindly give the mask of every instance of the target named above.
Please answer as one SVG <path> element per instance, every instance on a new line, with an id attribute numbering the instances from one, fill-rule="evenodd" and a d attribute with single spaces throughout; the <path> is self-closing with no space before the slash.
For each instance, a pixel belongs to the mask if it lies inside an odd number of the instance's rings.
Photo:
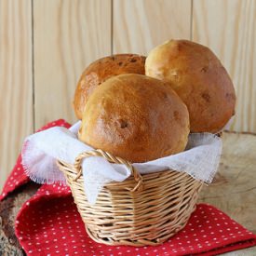
<path id="1" fill-rule="evenodd" d="M 0 1 L 0 190 L 33 131 L 31 2 Z"/>

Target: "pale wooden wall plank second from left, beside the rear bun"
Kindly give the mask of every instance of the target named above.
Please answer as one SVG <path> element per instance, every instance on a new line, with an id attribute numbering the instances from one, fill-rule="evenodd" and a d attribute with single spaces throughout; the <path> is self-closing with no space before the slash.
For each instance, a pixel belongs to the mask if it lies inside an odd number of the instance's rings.
<path id="1" fill-rule="evenodd" d="M 72 102 L 80 74 L 110 53 L 110 0 L 35 0 L 35 128 L 58 118 L 74 122 Z"/>

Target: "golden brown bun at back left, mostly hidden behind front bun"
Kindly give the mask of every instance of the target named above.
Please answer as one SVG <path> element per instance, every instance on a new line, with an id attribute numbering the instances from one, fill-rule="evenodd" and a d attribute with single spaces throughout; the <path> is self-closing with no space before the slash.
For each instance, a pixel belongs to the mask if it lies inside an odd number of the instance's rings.
<path id="1" fill-rule="evenodd" d="M 74 93 L 74 112 L 82 119 L 88 97 L 108 78 L 118 74 L 145 74 L 146 58 L 137 54 L 115 54 L 92 62 L 81 75 Z"/>

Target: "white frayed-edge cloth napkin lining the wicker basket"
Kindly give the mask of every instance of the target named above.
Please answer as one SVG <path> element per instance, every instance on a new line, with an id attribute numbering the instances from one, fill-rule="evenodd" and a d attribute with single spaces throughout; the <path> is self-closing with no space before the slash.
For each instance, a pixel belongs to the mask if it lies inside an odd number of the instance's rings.
<path id="1" fill-rule="evenodd" d="M 73 164 L 77 155 L 92 150 L 78 141 L 80 121 L 73 127 L 48 128 L 34 133 L 24 141 L 21 151 L 22 165 L 27 175 L 39 183 L 65 183 L 56 160 Z M 222 140 L 211 133 L 192 133 L 186 150 L 146 163 L 134 163 L 141 174 L 166 170 L 168 168 L 186 172 L 196 180 L 210 183 L 217 171 L 222 153 Z M 102 186 L 107 182 L 123 182 L 130 176 L 126 166 L 110 164 L 100 156 L 85 158 L 82 163 L 85 192 L 88 202 L 94 204 Z"/>

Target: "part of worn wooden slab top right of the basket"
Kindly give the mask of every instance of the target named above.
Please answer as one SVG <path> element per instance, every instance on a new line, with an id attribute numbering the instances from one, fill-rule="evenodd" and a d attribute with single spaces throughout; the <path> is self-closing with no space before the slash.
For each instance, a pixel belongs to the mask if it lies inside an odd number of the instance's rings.
<path id="1" fill-rule="evenodd" d="M 223 132 L 222 141 L 218 173 L 201 191 L 200 200 L 256 234 L 256 135 Z"/>

